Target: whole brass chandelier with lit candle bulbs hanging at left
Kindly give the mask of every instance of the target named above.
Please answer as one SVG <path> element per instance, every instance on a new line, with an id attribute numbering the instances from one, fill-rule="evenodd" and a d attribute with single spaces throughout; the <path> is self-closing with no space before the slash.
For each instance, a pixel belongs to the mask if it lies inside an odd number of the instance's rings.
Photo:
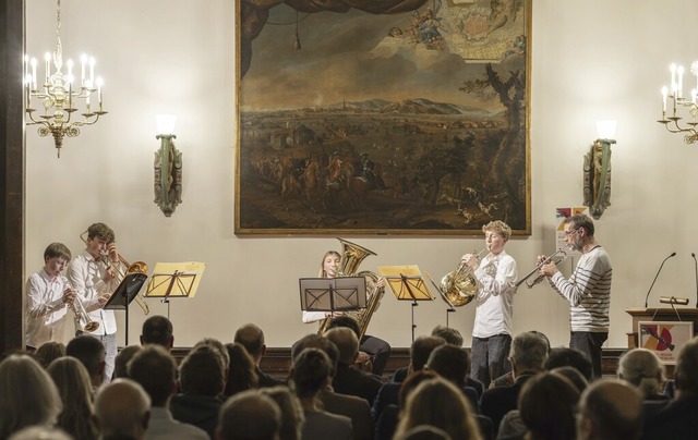
<path id="1" fill-rule="evenodd" d="M 81 57 L 81 78 L 80 84 L 74 84 L 73 61 L 65 62 L 67 72 L 63 73 L 63 50 L 61 46 L 61 0 L 58 0 L 57 7 L 57 27 L 56 27 L 56 50 L 51 54 L 46 52 L 44 56 L 46 74 L 40 80 L 37 77 L 36 58 L 29 60 L 28 56 L 24 57 L 24 94 L 26 105 L 26 124 L 38 125 L 38 134 L 40 136 L 53 136 L 58 157 L 61 157 L 61 147 L 63 146 L 63 137 L 75 137 L 80 134 L 80 127 L 83 125 L 92 125 L 99 120 L 99 117 L 106 114 L 103 111 L 103 81 L 100 77 L 95 78 L 95 59 L 83 54 Z M 51 72 L 51 63 L 53 71 Z M 92 96 L 97 94 L 95 101 Z M 93 102 L 91 102 L 91 98 Z M 72 120 L 77 102 L 84 100 L 84 110 L 82 120 Z M 38 101 L 44 107 L 43 112 L 38 112 L 32 107 Z M 43 113 L 43 114 L 35 114 Z"/>

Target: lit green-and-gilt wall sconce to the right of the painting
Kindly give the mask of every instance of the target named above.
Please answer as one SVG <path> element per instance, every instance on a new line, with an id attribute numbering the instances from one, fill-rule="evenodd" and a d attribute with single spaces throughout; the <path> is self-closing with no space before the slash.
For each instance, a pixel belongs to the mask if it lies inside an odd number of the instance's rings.
<path id="1" fill-rule="evenodd" d="M 595 220 L 611 206 L 611 144 L 615 144 L 615 121 L 597 121 L 599 138 L 585 155 L 583 205 Z"/>

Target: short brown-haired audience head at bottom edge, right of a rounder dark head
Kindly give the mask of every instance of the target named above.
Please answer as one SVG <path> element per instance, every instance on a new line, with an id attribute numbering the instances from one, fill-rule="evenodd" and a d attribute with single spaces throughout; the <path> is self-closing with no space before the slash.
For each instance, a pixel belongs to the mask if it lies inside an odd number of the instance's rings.
<path id="1" fill-rule="evenodd" d="M 642 432 L 642 396 L 618 379 L 599 379 L 579 400 L 577 439 L 637 439 Z"/>

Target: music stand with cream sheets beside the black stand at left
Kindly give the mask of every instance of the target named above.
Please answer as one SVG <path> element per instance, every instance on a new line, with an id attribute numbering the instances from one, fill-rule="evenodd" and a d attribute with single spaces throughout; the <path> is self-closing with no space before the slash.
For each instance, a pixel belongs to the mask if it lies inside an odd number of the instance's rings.
<path id="1" fill-rule="evenodd" d="M 205 262 L 157 262 L 145 290 L 145 297 L 161 298 L 160 303 L 167 304 L 169 319 L 170 298 L 194 297 L 204 269 Z"/>

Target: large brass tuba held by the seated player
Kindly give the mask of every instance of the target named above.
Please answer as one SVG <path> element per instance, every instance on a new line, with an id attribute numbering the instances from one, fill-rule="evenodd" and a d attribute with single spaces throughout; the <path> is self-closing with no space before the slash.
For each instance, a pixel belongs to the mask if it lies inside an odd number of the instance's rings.
<path id="1" fill-rule="evenodd" d="M 348 242 L 342 239 L 339 240 L 341 243 L 341 261 L 339 266 L 339 277 L 364 277 L 366 279 L 366 308 L 358 310 L 358 311 L 346 311 L 345 315 L 353 318 L 361 329 L 361 333 L 359 334 L 359 342 L 366 332 L 369 328 L 369 323 L 371 321 L 371 317 L 378 309 L 381 305 L 381 300 L 385 294 L 385 289 L 378 288 L 378 276 L 370 270 L 362 270 L 357 272 L 359 265 L 361 261 L 369 255 L 377 255 L 373 250 L 366 249 L 363 246 L 359 246 L 358 244 Z M 317 334 L 323 334 L 327 330 L 327 325 L 332 318 L 324 318 L 320 322 L 320 329 L 317 330 Z"/>

